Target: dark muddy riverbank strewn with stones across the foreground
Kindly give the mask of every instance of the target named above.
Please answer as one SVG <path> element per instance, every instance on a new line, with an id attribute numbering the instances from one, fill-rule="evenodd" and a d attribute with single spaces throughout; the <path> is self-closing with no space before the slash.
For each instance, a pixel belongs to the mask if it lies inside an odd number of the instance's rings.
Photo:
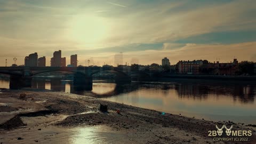
<path id="1" fill-rule="evenodd" d="M 19 99 L 20 93 L 26 98 Z M 108 113 L 99 111 L 99 103 L 108 105 Z M 251 130 L 246 143 L 256 142 L 252 126 L 162 114 L 63 92 L 2 90 L 0 107 L 0 143 L 216 143 L 208 131 L 223 124 Z"/>

